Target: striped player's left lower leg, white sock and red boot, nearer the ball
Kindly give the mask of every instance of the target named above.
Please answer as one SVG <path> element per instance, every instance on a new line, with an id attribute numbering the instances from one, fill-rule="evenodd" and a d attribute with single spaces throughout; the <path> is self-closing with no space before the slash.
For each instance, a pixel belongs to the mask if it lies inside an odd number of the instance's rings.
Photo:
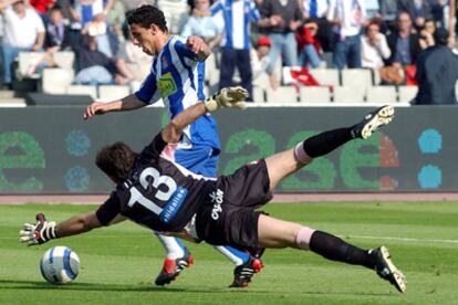
<path id="1" fill-rule="evenodd" d="M 174 236 L 165 236 L 156 233 L 166 251 L 166 257 L 164 259 L 164 265 L 159 274 L 156 277 L 155 284 L 163 286 L 174 281 L 179 273 L 192 264 L 192 254 L 181 243 L 181 241 Z"/>

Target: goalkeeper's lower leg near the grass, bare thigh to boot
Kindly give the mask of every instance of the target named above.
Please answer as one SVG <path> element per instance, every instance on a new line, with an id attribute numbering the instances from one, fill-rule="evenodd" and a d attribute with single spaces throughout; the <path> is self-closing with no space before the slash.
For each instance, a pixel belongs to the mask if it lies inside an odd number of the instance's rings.
<path id="1" fill-rule="evenodd" d="M 375 270 L 399 292 L 406 291 L 405 276 L 393 264 L 385 246 L 363 250 L 332 234 L 264 214 L 258 220 L 258 243 L 262 248 L 310 250 L 331 261 L 365 266 Z"/>

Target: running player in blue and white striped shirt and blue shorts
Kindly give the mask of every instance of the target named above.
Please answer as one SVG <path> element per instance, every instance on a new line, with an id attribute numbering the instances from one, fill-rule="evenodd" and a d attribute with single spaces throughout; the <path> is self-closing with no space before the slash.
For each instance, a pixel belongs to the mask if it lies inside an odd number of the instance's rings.
<path id="1" fill-rule="evenodd" d="M 94 102 L 86 108 L 84 118 L 107 112 L 142 108 L 160 98 L 174 118 L 198 101 L 204 101 L 204 61 L 211 54 L 207 44 L 198 36 L 185 40 L 170 35 L 163 11 L 153 6 L 143 6 L 131 11 L 127 22 L 134 43 L 146 54 L 155 56 L 152 72 L 135 94 L 111 103 Z M 205 115 L 186 127 L 183 134 L 184 137 L 171 152 L 171 158 L 195 173 L 216 177 L 220 143 L 215 119 Z M 155 283 L 165 285 L 192 263 L 192 256 L 178 239 L 162 234 L 157 236 L 167 255 Z M 232 287 L 247 286 L 262 266 L 259 257 L 246 252 L 223 245 L 216 249 L 236 264 Z"/>

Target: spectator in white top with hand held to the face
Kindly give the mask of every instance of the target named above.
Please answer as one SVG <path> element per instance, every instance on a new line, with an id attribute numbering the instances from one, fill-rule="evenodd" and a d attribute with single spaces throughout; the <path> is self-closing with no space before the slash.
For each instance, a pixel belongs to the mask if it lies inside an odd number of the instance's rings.
<path id="1" fill-rule="evenodd" d="M 365 28 L 361 38 L 361 55 L 363 67 L 373 70 L 383 67 L 384 61 L 392 55 L 386 36 L 381 33 L 381 21 L 374 19 Z"/>

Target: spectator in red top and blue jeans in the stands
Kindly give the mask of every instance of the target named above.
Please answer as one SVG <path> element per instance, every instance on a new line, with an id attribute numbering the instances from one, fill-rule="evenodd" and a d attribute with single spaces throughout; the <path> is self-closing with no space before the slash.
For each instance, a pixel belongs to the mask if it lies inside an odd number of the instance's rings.
<path id="1" fill-rule="evenodd" d="M 316 69 L 321 64 L 321 44 L 315 39 L 318 32 L 316 22 L 308 22 L 295 32 L 299 50 L 299 65 L 308 69 Z"/>

